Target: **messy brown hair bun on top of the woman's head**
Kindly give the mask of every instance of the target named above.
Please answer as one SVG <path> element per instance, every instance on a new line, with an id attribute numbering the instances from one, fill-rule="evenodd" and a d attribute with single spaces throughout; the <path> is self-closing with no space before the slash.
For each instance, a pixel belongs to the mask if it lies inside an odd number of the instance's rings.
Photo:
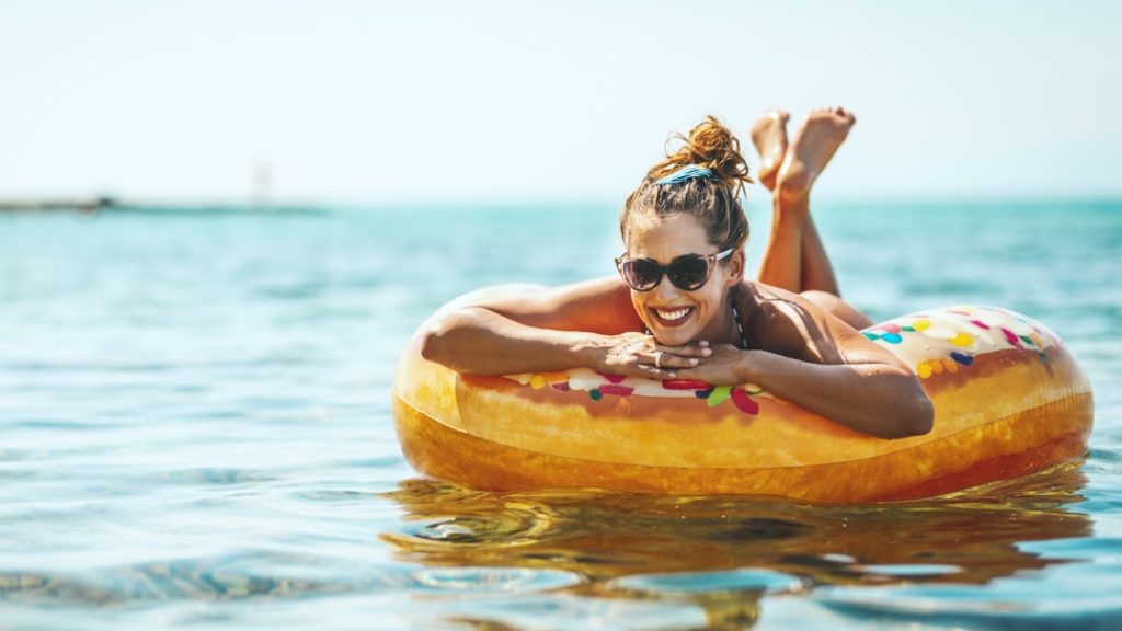
<path id="1" fill-rule="evenodd" d="M 752 183 L 748 164 L 741 155 L 741 140 L 717 117 L 707 116 L 690 129 L 688 137 L 681 134 L 671 136 L 666 140 L 668 147 L 675 140 L 682 146 L 673 153 L 668 148 L 666 159 L 655 165 L 647 177 L 659 180 L 683 166 L 696 164 L 712 171 L 714 176 L 729 189 L 743 191 L 745 184 Z"/>

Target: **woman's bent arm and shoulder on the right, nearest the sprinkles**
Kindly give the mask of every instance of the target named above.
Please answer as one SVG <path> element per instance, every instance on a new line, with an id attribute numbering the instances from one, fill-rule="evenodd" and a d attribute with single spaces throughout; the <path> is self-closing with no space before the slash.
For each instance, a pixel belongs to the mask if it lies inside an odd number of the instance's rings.
<path id="1" fill-rule="evenodd" d="M 881 438 L 931 431 L 934 409 L 919 379 L 886 349 L 790 292 L 770 300 L 762 350 L 712 348 L 682 378 L 754 383 L 853 430 Z"/>

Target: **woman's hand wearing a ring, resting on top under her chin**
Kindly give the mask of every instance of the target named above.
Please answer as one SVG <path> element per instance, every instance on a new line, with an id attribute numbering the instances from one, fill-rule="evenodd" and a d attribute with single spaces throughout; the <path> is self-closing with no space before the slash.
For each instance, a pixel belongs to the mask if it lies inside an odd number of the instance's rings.
<path id="1" fill-rule="evenodd" d="M 673 379 L 711 355 L 706 342 L 663 346 L 646 333 L 626 332 L 604 339 L 594 367 L 613 375 Z"/>

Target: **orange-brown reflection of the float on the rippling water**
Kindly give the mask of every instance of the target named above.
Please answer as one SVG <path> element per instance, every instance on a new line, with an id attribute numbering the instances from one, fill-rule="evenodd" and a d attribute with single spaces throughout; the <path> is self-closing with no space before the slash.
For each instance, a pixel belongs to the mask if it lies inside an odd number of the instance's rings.
<path id="1" fill-rule="evenodd" d="M 1068 509 L 1083 500 L 1085 483 L 1068 465 L 921 502 L 824 506 L 482 493 L 413 478 L 386 494 L 406 514 L 402 528 L 381 539 L 402 561 L 563 571 L 580 577 L 562 587 L 573 596 L 696 605 L 707 625 L 737 629 L 756 621 L 765 595 L 985 585 L 1067 563 L 1022 545 L 1089 536 L 1091 518 Z"/>

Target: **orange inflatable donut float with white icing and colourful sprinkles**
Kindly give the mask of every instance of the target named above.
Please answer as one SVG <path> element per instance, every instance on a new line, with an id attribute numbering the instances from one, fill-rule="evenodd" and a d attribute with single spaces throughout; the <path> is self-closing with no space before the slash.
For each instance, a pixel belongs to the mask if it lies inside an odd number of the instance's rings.
<path id="1" fill-rule="evenodd" d="M 863 335 L 911 366 L 931 432 L 858 433 L 752 384 L 651 381 L 570 369 L 461 375 L 421 357 L 393 386 L 402 450 L 421 473 L 481 491 L 601 488 L 815 502 L 928 497 L 1038 472 L 1086 451 L 1091 385 L 1045 326 L 995 307 L 894 318 Z"/>

